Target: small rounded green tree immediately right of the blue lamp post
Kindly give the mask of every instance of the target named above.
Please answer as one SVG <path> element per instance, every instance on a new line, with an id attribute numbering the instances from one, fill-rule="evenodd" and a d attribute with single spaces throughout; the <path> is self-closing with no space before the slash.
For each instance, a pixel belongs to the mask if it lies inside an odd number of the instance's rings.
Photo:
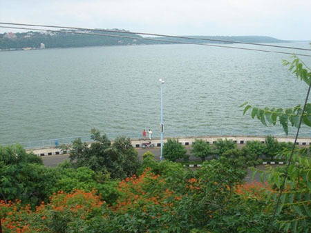
<path id="1" fill-rule="evenodd" d="M 164 159 L 175 162 L 177 159 L 188 160 L 189 155 L 185 147 L 179 143 L 178 139 L 167 139 L 163 145 Z"/>

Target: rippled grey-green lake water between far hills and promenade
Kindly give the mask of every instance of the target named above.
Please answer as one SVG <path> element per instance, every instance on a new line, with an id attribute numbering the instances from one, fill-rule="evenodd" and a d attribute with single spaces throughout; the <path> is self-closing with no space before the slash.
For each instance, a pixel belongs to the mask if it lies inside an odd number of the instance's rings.
<path id="1" fill-rule="evenodd" d="M 311 66 L 310 58 L 301 58 Z M 160 78 L 164 136 L 283 134 L 280 126 L 266 128 L 238 108 L 245 101 L 261 107 L 304 103 L 308 85 L 282 59 L 290 56 L 198 45 L 0 52 L 0 144 L 88 135 L 91 128 L 112 138 L 137 137 L 149 128 L 158 136 Z M 303 135 L 310 129 L 302 128 Z"/>

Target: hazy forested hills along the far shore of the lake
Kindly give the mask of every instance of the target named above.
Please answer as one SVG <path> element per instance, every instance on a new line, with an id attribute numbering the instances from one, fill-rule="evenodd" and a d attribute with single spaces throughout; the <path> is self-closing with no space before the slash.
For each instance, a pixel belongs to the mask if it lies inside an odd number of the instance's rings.
<path id="1" fill-rule="evenodd" d="M 73 30 L 74 31 L 74 30 Z M 129 32 L 126 30 L 118 30 L 122 32 Z M 84 35 L 84 34 L 72 34 L 66 32 L 23 32 L 23 33 L 7 33 L 0 34 L 0 50 L 12 50 L 12 49 L 30 49 L 40 48 L 41 43 L 45 48 L 68 48 L 68 47 L 84 47 L 84 46 L 100 46 L 100 45 L 142 45 L 142 44 L 158 44 L 165 43 L 161 41 L 150 41 L 142 39 L 143 37 L 137 34 L 128 34 L 121 32 L 98 32 L 98 31 L 78 31 L 78 32 L 91 32 L 102 34 L 114 34 L 119 36 L 128 36 L 135 38 L 122 38 L 122 37 L 102 37 L 98 35 Z M 194 37 L 194 36 L 191 36 Z M 151 37 L 149 37 L 151 38 Z M 243 42 L 256 42 L 256 43 L 277 43 L 286 42 L 272 37 L 202 37 L 195 36 L 195 40 L 190 39 L 175 39 L 167 37 L 157 37 L 155 39 L 165 39 L 174 43 L 173 41 L 191 41 L 196 43 L 223 43 L 216 41 L 202 41 L 201 38 L 208 39 L 223 39 L 230 41 L 243 41 Z"/>

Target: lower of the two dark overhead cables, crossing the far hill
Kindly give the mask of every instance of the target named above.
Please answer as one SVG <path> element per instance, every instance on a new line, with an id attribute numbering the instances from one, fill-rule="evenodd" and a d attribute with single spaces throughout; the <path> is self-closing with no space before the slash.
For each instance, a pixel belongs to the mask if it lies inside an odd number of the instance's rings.
<path id="1" fill-rule="evenodd" d="M 154 38 L 146 38 L 146 37 L 129 37 L 129 36 L 122 36 L 122 35 L 116 35 L 116 34 L 102 34 L 102 33 L 91 33 L 91 32 L 73 32 L 73 31 L 66 31 L 66 30 L 49 30 L 49 29 L 39 29 L 39 28 L 20 28 L 20 27 L 8 27 L 8 26 L 0 26 L 0 28 L 12 28 L 12 29 L 21 29 L 21 30 L 35 30 L 35 31 L 44 31 L 44 32 L 58 32 L 58 33 L 70 33 L 70 34 L 87 34 L 87 35 L 93 35 L 93 36 L 101 36 L 101 37 L 118 37 L 118 38 L 128 38 L 128 39 L 140 39 L 140 40 L 147 40 L 147 41 L 159 41 L 159 42 L 165 42 L 165 43 L 182 43 L 182 44 L 191 44 L 191 45 L 203 45 L 203 46 L 210 46 L 210 47 L 218 47 L 218 48 L 232 48 L 232 49 L 238 49 L 238 50 L 251 50 L 251 51 L 257 51 L 257 52 L 272 52 L 272 53 L 279 53 L 279 54 L 289 54 L 289 55 L 298 55 L 298 56 L 304 56 L 304 57 L 311 57 L 311 55 L 308 54 L 298 54 L 298 53 L 292 53 L 292 52 L 281 52 L 281 51 L 272 51 L 272 50 L 259 50 L 254 48 L 242 48 L 242 47 L 232 47 L 227 45 L 212 45 L 207 43 L 196 43 L 196 42 L 189 42 L 189 41 L 171 41 L 171 40 L 165 40 L 165 39 L 154 39 Z M 119 31 L 113 31 L 113 32 L 119 32 Z"/>

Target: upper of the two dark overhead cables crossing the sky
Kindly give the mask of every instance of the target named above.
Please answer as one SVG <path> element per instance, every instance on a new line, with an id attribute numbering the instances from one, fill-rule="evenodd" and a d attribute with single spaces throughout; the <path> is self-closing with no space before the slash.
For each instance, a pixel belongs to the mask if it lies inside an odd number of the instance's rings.
<path id="1" fill-rule="evenodd" d="M 242 43 L 242 44 L 247 44 L 247 45 L 258 45 L 258 46 L 266 46 L 266 47 L 274 47 L 274 48 L 286 48 L 286 49 L 292 49 L 292 50 L 311 51 L 311 49 L 308 49 L 308 48 L 296 48 L 296 47 L 283 46 L 283 45 L 267 45 L 267 44 L 262 44 L 262 43 L 250 43 L 250 42 L 231 41 L 231 40 L 224 40 L 224 39 L 182 37 L 182 36 L 172 36 L 172 35 L 168 35 L 168 34 L 147 33 L 147 32 L 124 32 L 124 31 L 108 30 L 108 29 L 77 28 L 77 27 L 67 27 L 67 26 L 50 26 L 50 25 L 26 24 L 26 23 L 0 22 L 0 24 L 16 25 L 16 26 L 44 27 L 44 28 L 66 28 L 66 29 L 75 29 L 75 30 L 93 30 L 93 31 L 99 31 L 99 32 L 118 32 L 118 33 L 126 33 L 126 34 L 143 34 L 143 35 L 155 36 L 155 37 L 169 37 L 169 38 L 176 38 L 176 39 L 195 39 L 195 40 L 201 40 L 201 41 L 218 41 L 218 42 L 225 42 L 225 43 Z"/>

